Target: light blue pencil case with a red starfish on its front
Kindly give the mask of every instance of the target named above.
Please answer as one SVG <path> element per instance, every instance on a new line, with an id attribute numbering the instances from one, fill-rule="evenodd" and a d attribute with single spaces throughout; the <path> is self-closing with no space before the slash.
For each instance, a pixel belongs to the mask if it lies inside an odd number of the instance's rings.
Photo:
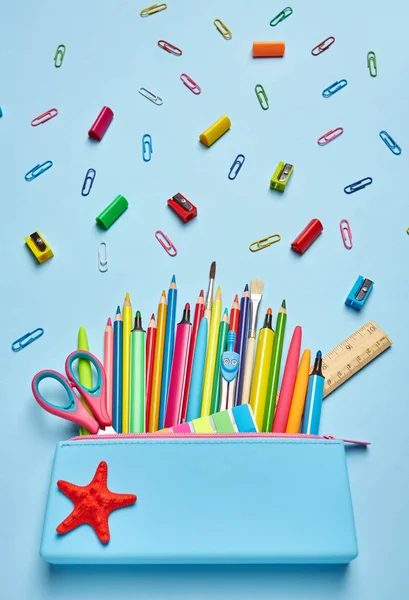
<path id="1" fill-rule="evenodd" d="M 357 553 L 340 440 L 139 434 L 57 445 L 41 542 L 50 563 L 348 563 Z"/>

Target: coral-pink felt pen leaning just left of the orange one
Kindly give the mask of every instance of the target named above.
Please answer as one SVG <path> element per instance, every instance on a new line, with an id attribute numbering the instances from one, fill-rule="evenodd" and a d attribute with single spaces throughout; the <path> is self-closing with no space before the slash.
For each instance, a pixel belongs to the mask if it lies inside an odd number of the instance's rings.
<path id="1" fill-rule="evenodd" d="M 294 329 L 285 363 L 283 380 L 281 382 L 280 398 L 273 422 L 273 433 L 285 433 L 288 415 L 290 414 L 295 380 L 297 378 L 298 361 L 300 359 L 302 329 L 299 325 Z"/>

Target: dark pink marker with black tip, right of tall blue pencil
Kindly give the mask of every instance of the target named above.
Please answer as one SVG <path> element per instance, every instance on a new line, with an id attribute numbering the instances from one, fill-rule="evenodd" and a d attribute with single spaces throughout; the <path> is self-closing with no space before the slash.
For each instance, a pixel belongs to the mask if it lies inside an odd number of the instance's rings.
<path id="1" fill-rule="evenodd" d="M 173 425 L 180 423 L 191 333 L 190 304 L 186 304 L 182 320 L 176 327 L 175 350 L 170 374 L 165 427 L 173 427 Z"/>

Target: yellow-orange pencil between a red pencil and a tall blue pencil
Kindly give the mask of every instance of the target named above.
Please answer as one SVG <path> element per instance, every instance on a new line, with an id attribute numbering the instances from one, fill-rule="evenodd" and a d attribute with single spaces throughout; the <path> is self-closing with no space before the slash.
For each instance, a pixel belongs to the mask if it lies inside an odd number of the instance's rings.
<path id="1" fill-rule="evenodd" d="M 158 326 L 156 331 L 155 358 L 153 363 L 151 408 L 149 412 L 149 433 L 158 430 L 159 410 L 160 410 L 160 392 L 162 388 L 162 366 L 163 366 L 163 348 L 165 345 L 166 333 L 166 315 L 168 305 L 166 303 L 166 292 L 163 290 L 158 306 Z"/>

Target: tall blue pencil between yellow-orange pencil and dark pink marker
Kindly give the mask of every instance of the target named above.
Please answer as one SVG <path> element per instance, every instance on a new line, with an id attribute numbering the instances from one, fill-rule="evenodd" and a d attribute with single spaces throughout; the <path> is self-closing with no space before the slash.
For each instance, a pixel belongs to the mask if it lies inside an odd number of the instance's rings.
<path id="1" fill-rule="evenodd" d="M 165 346 L 163 348 L 162 387 L 160 392 L 159 429 L 165 427 L 166 405 L 168 403 L 168 391 L 170 383 L 170 372 L 172 369 L 173 350 L 175 347 L 176 327 L 176 303 L 178 290 L 176 277 L 172 277 L 168 291 L 168 313 L 166 316 Z"/>

